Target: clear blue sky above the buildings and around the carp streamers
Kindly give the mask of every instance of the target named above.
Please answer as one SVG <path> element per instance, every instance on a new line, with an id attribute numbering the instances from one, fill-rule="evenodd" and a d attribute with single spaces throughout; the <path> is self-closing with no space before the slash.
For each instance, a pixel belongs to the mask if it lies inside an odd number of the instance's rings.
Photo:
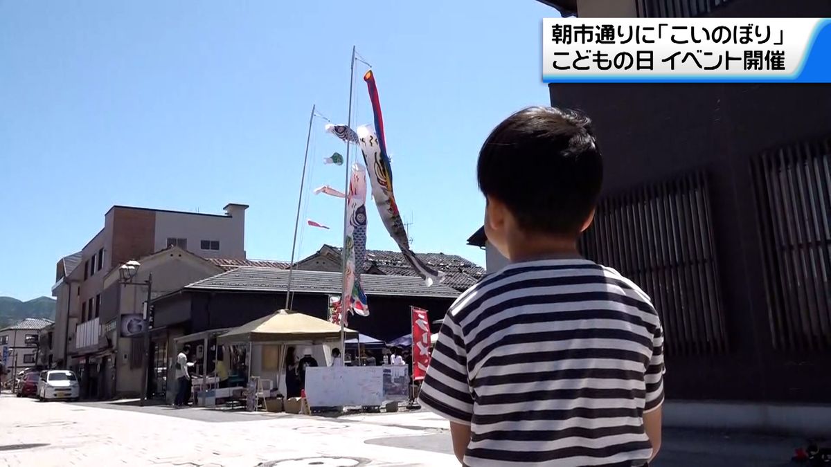
<path id="1" fill-rule="evenodd" d="M 113 204 L 250 204 L 248 257 L 288 259 L 309 111 L 346 120 L 353 44 L 376 73 L 412 247 L 484 264 L 465 244 L 484 207 L 479 145 L 548 104 L 540 30 L 556 14 L 534 0 L 0 0 L 0 295 L 49 295 L 57 259 Z M 371 123 L 356 80 L 356 123 Z M 307 192 L 342 189 L 323 123 Z M 342 204 L 312 196 L 306 217 L 333 229 L 304 229 L 298 256 L 342 243 Z M 368 210 L 369 248 L 395 249 Z"/>

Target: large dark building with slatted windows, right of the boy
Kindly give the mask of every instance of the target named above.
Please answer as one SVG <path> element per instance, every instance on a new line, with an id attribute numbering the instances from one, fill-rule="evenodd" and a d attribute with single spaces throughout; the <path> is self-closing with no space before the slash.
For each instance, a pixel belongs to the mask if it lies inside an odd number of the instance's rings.
<path id="1" fill-rule="evenodd" d="M 822 0 L 545 3 L 580 17 L 831 16 Z M 831 391 L 831 86 L 557 83 L 549 91 L 552 105 L 594 121 L 605 182 L 580 247 L 655 302 L 666 395 L 678 401 L 667 420 L 827 431 L 831 411 L 806 404 L 827 403 Z M 485 240 L 479 232 L 471 243 L 488 248 Z M 504 262 L 488 258 L 489 270 Z"/>

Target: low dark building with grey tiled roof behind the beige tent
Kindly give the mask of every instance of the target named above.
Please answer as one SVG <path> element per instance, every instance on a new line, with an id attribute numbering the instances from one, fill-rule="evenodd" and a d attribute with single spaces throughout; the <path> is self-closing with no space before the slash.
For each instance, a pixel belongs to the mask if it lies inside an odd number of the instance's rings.
<path id="1" fill-rule="evenodd" d="M 285 269 L 242 266 L 156 298 L 154 365 L 171 368 L 175 337 L 241 326 L 285 308 L 288 275 Z M 424 308 L 431 320 L 439 320 L 460 294 L 444 284 L 425 287 L 416 277 L 364 274 L 361 280 L 370 316 L 350 317 L 349 327 L 384 341 L 411 332 L 410 307 Z M 289 307 L 327 319 L 329 297 L 339 296 L 341 288 L 341 273 L 293 271 Z M 162 388 L 172 393 L 174 380 L 172 375 L 168 382 L 160 378 L 157 396 L 164 396 Z"/>

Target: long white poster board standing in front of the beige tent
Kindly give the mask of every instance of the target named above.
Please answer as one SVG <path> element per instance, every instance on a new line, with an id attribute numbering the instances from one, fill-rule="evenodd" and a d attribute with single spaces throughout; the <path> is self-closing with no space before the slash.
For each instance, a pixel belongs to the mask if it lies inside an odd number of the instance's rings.
<path id="1" fill-rule="evenodd" d="M 406 366 L 312 366 L 306 370 L 306 398 L 312 407 L 406 401 L 408 385 Z"/>

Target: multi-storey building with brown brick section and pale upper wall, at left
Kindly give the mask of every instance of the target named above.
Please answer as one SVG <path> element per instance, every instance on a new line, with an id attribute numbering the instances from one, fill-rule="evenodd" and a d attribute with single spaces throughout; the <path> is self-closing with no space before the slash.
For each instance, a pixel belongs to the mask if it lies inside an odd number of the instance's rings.
<path id="1" fill-rule="evenodd" d="M 113 206 L 104 216 L 103 229 L 81 252 L 57 263 L 57 283 L 52 288 L 57 297 L 55 361 L 76 369 L 85 381 L 97 378 L 99 370 L 115 368 L 114 361 L 101 357 L 114 355 L 116 349 L 100 346 L 112 332 L 107 326 L 112 326 L 112 318 L 120 316 L 123 309 L 117 308 L 118 300 L 106 299 L 105 288 L 111 287 L 106 278 L 112 278 L 113 271 L 127 261 L 170 247 L 201 258 L 245 259 L 246 209 L 246 204 L 228 204 L 225 214 L 204 214 Z M 211 268 L 211 273 L 218 272 Z M 102 320 L 102 314 L 108 319 Z M 106 384 L 88 382 L 82 391 L 86 396 L 109 394 L 107 388 L 113 387 L 115 378 L 108 375 L 107 379 Z"/>

